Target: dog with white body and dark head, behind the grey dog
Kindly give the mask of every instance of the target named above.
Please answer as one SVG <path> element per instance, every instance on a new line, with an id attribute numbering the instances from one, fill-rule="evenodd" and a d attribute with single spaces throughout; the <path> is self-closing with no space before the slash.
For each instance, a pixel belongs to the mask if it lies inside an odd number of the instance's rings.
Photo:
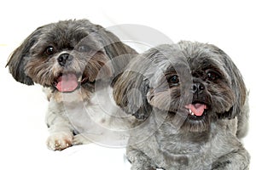
<path id="1" fill-rule="evenodd" d="M 47 94 L 50 150 L 86 143 L 79 133 L 98 133 L 93 125 L 114 125 L 113 117 L 106 114 L 107 110 L 117 111 L 108 96 L 112 88 L 102 79 L 125 66 L 125 57 L 121 61 L 124 65 L 113 62 L 125 54 L 137 52 L 89 20 L 63 20 L 38 27 L 11 54 L 7 65 L 15 80 L 26 85 L 38 83 Z"/>

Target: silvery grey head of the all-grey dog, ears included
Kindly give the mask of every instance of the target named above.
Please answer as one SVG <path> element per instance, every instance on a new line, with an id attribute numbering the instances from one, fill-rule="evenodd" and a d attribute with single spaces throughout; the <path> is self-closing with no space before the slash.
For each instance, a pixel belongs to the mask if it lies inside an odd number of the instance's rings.
<path id="1" fill-rule="evenodd" d="M 140 94 L 129 94 L 134 88 Z M 161 45 L 139 55 L 113 93 L 117 104 L 138 119 L 146 119 L 153 110 L 166 112 L 171 122 L 182 123 L 180 129 L 190 132 L 206 131 L 210 122 L 238 116 L 247 95 L 230 57 L 199 42 Z"/>

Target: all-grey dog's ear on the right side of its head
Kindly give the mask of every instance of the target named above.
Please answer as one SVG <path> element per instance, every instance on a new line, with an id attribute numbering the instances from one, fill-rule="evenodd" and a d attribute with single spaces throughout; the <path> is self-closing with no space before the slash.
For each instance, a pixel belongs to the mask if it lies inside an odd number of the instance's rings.
<path id="1" fill-rule="evenodd" d="M 234 118 L 235 116 L 241 116 L 241 114 L 246 114 L 242 111 L 245 107 L 247 100 L 247 88 L 241 76 L 241 72 L 236 67 L 235 63 L 230 59 L 230 57 L 224 53 L 223 50 L 217 48 L 216 46 L 212 46 L 214 48 L 214 52 L 223 56 L 225 69 L 230 73 L 231 79 L 231 87 L 232 91 L 235 93 L 235 103 L 232 106 L 230 111 L 227 111 L 224 114 L 224 117 Z"/>

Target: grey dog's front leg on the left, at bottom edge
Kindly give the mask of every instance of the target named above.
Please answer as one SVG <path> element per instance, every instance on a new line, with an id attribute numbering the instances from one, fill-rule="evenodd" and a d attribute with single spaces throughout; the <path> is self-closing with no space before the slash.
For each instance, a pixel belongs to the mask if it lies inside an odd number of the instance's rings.
<path id="1" fill-rule="evenodd" d="M 126 154 L 131 161 L 131 170 L 156 170 L 153 161 L 143 151 L 128 146 Z"/>

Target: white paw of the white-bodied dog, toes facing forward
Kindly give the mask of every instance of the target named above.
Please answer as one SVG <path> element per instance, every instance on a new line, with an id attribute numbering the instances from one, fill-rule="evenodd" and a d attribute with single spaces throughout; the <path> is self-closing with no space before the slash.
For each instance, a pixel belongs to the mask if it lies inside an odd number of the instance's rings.
<path id="1" fill-rule="evenodd" d="M 47 139 L 49 150 L 64 150 L 73 144 L 73 135 L 70 133 L 51 133 Z"/>

